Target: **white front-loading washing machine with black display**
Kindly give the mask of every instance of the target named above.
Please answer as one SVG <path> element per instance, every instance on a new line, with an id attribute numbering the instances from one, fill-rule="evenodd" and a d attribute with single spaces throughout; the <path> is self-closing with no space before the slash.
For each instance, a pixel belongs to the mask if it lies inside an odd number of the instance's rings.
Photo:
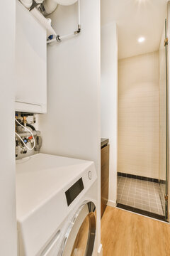
<path id="1" fill-rule="evenodd" d="M 96 256 L 94 162 L 36 154 L 16 161 L 19 256 Z"/>

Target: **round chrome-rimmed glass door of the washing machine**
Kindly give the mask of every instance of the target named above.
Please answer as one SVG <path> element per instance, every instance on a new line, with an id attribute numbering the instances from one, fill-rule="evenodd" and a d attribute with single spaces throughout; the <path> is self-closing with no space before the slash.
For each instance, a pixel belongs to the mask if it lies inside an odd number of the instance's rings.
<path id="1" fill-rule="evenodd" d="M 96 206 L 84 202 L 74 215 L 62 241 L 59 256 L 91 256 L 96 236 Z"/>

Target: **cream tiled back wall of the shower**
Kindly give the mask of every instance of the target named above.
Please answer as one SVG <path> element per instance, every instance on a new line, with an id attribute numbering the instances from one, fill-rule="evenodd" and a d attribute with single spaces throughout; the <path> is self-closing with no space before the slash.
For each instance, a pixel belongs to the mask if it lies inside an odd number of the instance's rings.
<path id="1" fill-rule="evenodd" d="M 159 178 L 159 54 L 118 62 L 118 171 Z"/>

